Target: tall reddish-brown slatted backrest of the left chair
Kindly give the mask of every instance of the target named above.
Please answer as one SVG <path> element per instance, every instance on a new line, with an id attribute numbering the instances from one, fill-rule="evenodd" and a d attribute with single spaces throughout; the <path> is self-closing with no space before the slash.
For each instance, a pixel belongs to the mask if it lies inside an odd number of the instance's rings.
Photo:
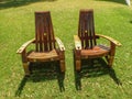
<path id="1" fill-rule="evenodd" d="M 55 48 L 54 30 L 50 11 L 35 12 L 36 52 L 48 52 Z"/>

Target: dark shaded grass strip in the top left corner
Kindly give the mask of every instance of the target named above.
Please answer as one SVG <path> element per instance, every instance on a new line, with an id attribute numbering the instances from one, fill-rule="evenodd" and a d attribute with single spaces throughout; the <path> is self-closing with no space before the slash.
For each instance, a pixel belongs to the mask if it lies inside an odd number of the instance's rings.
<path id="1" fill-rule="evenodd" d="M 30 3 L 44 2 L 44 1 L 53 2 L 56 0 L 0 0 L 0 10 L 22 7 L 22 6 L 28 6 Z"/>

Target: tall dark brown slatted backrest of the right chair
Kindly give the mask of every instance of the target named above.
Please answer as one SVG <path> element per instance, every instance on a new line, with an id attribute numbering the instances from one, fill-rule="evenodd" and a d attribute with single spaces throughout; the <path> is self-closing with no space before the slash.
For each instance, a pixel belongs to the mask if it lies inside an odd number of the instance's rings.
<path id="1" fill-rule="evenodd" d="M 92 48 L 97 42 L 95 35 L 94 10 L 80 10 L 78 36 L 81 41 L 81 47 Z"/>

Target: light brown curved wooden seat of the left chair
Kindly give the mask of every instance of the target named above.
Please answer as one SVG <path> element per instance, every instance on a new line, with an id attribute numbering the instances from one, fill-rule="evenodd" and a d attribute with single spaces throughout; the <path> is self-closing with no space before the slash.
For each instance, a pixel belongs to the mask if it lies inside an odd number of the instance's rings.
<path id="1" fill-rule="evenodd" d="M 50 52 L 31 52 L 28 55 L 30 62 L 58 61 L 58 54 L 55 50 Z"/>

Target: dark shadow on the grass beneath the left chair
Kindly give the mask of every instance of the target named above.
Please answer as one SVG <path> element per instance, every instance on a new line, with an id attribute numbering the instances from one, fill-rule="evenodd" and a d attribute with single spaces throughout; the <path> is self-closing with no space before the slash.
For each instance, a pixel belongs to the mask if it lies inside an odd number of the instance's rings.
<path id="1" fill-rule="evenodd" d="M 30 65 L 31 75 L 24 76 L 15 91 L 15 97 L 21 96 L 22 90 L 28 81 L 40 82 L 56 80 L 61 91 L 65 91 L 64 78 L 65 73 L 61 73 L 58 62 L 36 63 Z"/>

